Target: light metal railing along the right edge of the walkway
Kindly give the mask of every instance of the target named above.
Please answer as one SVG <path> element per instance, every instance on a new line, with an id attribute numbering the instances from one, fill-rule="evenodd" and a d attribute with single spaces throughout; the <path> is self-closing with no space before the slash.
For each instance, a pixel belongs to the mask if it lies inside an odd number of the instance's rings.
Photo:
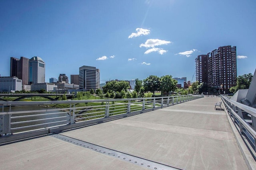
<path id="1" fill-rule="evenodd" d="M 241 134 L 244 134 L 256 151 L 256 109 L 229 99 L 229 96 L 222 96 L 230 117 L 238 126 Z"/>

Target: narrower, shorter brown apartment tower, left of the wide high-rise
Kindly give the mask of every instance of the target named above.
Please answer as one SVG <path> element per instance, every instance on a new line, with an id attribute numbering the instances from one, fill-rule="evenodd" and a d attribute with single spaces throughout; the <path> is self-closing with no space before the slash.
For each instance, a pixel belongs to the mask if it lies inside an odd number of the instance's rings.
<path id="1" fill-rule="evenodd" d="M 208 55 L 198 55 L 196 62 L 196 81 L 208 83 Z"/>

